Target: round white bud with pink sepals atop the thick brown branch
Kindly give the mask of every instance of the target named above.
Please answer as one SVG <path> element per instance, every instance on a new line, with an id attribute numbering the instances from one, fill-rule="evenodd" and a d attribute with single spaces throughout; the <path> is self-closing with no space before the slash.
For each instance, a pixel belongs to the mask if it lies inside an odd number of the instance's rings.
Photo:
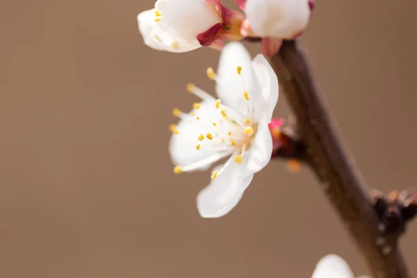
<path id="1" fill-rule="evenodd" d="M 247 18 L 241 33 L 261 37 L 267 56 L 277 53 L 283 40 L 301 35 L 309 23 L 313 0 L 236 0 Z"/>

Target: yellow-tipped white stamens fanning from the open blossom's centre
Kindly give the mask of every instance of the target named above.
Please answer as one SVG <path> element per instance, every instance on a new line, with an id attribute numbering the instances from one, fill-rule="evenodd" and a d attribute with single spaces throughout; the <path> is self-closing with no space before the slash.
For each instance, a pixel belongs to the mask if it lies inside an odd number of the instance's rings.
<path id="1" fill-rule="evenodd" d="M 236 71 L 238 75 L 241 75 L 242 67 L 237 67 Z M 208 67 L 206 74 L 208 79 L 216 81 L 220 85 L 222 84 L 213 68 Z M 213 108 L 215 108 L 213 110 L 218 111 L 221 115 L 221 117 L 216 117 L 214 115 L 217 122 L 207 122 L 206 119 L 200 119 L 201 115 L 199 115 L 198 112 L 202 106 L 198 102 L 193 104 L 194 110 L 190 114 L 183 113 L 178 108 L 172 110 L 172 114 L 175 117 L 179 117 L 181 120 L 188 120 L 190 124 L 198 124 L 200 127 L 206 129 L 206 133 L 200 133 L 197 138 L 195 138 L 197 139 L 195 149 L 214 149 L 220 154 L 224 154 L 222 157 L 233 155 L 235 163 L 242 163 L 244 154 L 247 149 L 250 148 L 257 128 L 256 123 L 251 119 L 252 108 L 250 106 L 250 96 L 248 92 L 243 91 L 243 98 L 249 104 L 249 116 L 245 118 L 228 106 L 224 106 L 220 99 L 215 99 L 211 95 L 208 95 L 204 90 L 197 88 L 193 83 L 189 83 L 186 86 L 186 90 L 200 99 L 212 103 Z M 171 124 L 169 129 L 175 136 L 181 136 L 176 124 Z M 174 167 L 174 173 L 178 174 L 193 169 L 195 169 L 195 165 L 177 165 Z M 218 177 L 218 174 L 221 174 L 221 172 L 222 170 L 215 170 L 211 175 L 211 179 Z"/>

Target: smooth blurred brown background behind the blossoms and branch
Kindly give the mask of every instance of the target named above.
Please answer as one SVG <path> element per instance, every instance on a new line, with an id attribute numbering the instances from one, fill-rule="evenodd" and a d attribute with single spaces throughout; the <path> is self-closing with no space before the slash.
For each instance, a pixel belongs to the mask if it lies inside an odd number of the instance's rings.
<path id="1" fill-rule="evenodd" d="M 231 3 L 232 1 L 226 2 Z M 153 0 L 0 3 L 0 277 L 310 277 L 321 256 L 369 273 L 311 172 L 273 161 L 224 218 L 208 173 L 174 176 L 173 106 L 219 53 L 147 49 Z M 317 1 L 303 42 L 373 188 L 416 183 L 415 1 Z M 252 54 L 259 48 L 251 45 Z M 277 116 L 288 115 L 281 95 Z M 417 276 L 417 225 L 401 245 Z"/>

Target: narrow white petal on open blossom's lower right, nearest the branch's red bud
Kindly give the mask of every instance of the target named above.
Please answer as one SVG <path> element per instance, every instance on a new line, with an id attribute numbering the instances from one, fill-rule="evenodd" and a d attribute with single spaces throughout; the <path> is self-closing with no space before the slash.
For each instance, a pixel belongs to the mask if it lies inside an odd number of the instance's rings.
<path id="1" fill-rule="evenodd" d="M 247 169 L 252 172 L 259 172 L 265 167 L 272 155 L 272 136 L 268 127 L 266 113 L 261 115 L 258 123 L 258 131 L 247 154 Z"/>

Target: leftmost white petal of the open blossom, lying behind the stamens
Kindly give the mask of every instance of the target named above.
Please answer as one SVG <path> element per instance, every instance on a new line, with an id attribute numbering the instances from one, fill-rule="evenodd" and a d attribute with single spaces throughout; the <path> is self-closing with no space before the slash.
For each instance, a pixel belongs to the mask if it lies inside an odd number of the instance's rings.
<path id="1" fill-rule="evenodd" d="M 175 165 L 190 165 L 220 153 L 220 151 L 206 148 L 206 144 L 209 142 L 207 139 L 203 141 L 197 140 L 199 134 L 205 135 L 210 132 L 207 126 L 211 126 L 212 122 L 215 122 L 216 119 L 222 117 L 220 113 L 216 111 L 214 101 L 203 101 L 198 110 L 193 110 L 190 113 L 195 113 L 195 117 L 198 116 L 199 121 L 191 115 L 179 120 L 179 123 L 177 124 L 177 131 L 179 131 L 179 134 L 172 134 L 170 140 L 169 152 L 172 162 Z M 190 123 L 190 121 L 192 122 Z M 201 123 L 205 125 L 202 125 Z M 201 148 L 197 149 L 197 145 L 201 145 Z M 196 170 L 206 170 L 206 168 L 216 160 L 217 159 L 214 159 L 214 161 L 209 161 L 209 163 L 200 165 Z"/>

